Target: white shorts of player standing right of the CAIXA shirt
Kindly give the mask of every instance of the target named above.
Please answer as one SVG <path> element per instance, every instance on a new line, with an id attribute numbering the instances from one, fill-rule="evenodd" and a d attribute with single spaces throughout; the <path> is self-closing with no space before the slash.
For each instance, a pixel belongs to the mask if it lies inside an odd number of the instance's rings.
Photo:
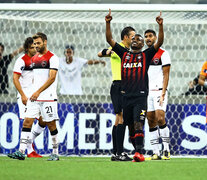
<path id="1" fill-rule="evenodd" d="M 167 108 L 167 91 L 164 97 L 164 101 L 162 106 L 160 106 L 160 96 L 162 94 L 162 90 L 157 90 L 157 91 L 149 91 L 149 95 L 147 98 L 147 111 L 156 111 L 156 110 L 163 110 L 164 112 L 166 111 Z"/>

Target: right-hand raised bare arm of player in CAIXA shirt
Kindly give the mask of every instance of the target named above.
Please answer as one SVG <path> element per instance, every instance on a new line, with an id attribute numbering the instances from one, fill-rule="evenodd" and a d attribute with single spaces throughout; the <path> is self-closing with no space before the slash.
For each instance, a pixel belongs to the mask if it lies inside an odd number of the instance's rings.
<path id="1" fill-rule="evenodd" d="M 162 12 L 160 11 L 160 15 L 156 17 L 157 24 L 159 25 L 159 35 L 157 42 L 154 44 L 155 50 L 158 50 L 164 41 L 163 18 L 161 16 Z"/>

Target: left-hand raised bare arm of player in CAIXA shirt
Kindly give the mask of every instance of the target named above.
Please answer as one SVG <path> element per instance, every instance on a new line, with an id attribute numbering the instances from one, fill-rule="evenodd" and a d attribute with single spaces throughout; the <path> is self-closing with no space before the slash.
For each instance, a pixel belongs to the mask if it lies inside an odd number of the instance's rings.
<path id="1" fill-rule="evenodd" d="M 109 9 L 109 14 L 105 17 L 105 21 L 106 21 L 106 41 L 111 45 L 111 47 L 114 47 L 116 42 L 112 39 L 111 27 L 110 27 L 111 20 L 112 20 L 111 9 Z"/>

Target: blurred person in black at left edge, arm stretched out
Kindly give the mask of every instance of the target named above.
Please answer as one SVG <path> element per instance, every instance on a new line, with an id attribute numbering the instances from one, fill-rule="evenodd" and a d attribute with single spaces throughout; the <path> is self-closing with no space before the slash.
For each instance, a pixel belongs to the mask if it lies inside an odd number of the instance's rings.
<path id="1" fill-rule="evenodd" d="M 23 47 L 15 50 L 13 53 L 3 56 L 4 45 L 0 43 L 0 94 L 8 94 L 9 80 L 7 69 L 14 56 L 21 53 Z"/>

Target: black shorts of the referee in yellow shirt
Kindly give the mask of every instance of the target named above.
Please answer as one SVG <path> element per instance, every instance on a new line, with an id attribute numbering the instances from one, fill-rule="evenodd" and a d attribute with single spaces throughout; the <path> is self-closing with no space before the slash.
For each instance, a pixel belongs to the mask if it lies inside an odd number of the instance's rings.
<path id="1" fill-rule="evenodd" d="M 113 81 L 111 85 L 111 101 L 114 107 L 114 113 L 122 112 L 122 94 L 121 94 L 121 81 Z"/>

